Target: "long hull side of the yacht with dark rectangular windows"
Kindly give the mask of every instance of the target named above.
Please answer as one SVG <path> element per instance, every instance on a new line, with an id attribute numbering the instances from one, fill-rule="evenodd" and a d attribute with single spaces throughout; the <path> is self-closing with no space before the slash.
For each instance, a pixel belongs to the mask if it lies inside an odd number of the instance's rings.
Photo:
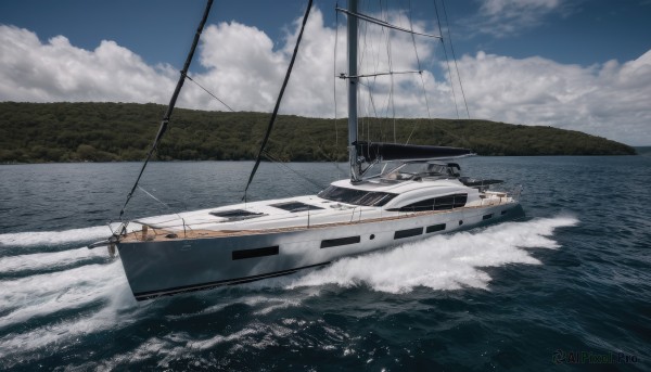
<path id="1" fill-rule="evenodd" d="M 117 247 L 133 296 L 141 300 L 288 274 L 341 257 L 522 215 L 520 204 L 509 198 L 498 205 L 309 228 L 156 241 L 131 239 L 120 241 Z"/>

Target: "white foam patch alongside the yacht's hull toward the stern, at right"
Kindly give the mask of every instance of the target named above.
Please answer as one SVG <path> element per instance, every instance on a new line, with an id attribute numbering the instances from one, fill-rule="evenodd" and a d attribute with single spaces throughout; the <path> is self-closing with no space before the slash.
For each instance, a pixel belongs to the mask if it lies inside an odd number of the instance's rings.
<path id="1" fill-rule="evenodd" d="M 573 217 L 509 222 L 484 230 L 435 235 L 393 249 L 344 258 L 321 270 L 294 278 L 286 288 L 336 284 L 369 285 L 388 293 L 407 293 L 417 286 L 457 290 L 487 288 L 490 277 L 482 267 L 540 264 L 522 248 L 558 248 L 547 238 L 553 229 L 574 226 Z"/>

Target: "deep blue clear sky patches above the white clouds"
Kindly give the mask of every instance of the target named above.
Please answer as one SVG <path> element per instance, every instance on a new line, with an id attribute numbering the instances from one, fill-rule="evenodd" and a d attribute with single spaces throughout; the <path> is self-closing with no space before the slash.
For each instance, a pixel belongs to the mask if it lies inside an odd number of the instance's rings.
<path id="1" fill-rule="evenodd" d="M 341 0 L 344 5 L 345 2 Z M 424 4 L 417 16 L 431 16 L 426 13 L 432 9 L 431 2 L 412 1 L 414 10 Z M 303 14 L 306 3 L 306 0 L 215 1 L 208 22 L 237 20 L 279 40 L 283 28 Z M 651 0 L 574 0 L 553 11 L 540 12 L 535 22 L 516 25 L 515 30 L 503 35 L 472 30 L 473 24 L 482 22 L 477 20 L 482 17 L 482 3 L 446 2 L 459 54 L 482 50 L 513 57 L 539 55 L 585 66 L 609 60 L 630 61 L 651 49 Z M 335 1 L 316 0 L 315 4 L 323 11 L 327 23 L 334 24 Z M 30 29 L 42 40 L 64 35 L 71 43 L 84 49 L 94 49 L 105 39 L 115 40 L 149 63 L 181 65 L 188 39 L 204 5 L 197 0 L 2 1 L 0 23 Z M 494 28 L 497 33 L 499 27 Z"/>

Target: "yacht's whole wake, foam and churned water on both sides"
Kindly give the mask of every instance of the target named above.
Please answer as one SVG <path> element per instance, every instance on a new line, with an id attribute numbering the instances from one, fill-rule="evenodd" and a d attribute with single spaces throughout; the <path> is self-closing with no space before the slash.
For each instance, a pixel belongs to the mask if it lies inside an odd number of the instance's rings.
<path id="1" fill-rule="evenodd" d="M 130 295 L 117 260 L 99 258 L 105 251 L 80 247 L 102 238 L 106 228 L 73 230 L 72 234 L 3 234 L 0 355 L 10 359 L 2 364 L 39 358 L 30 350 L 51 352 L 56 348 L 53 345 L 82 342 L 79 339 L 86 336 L 125 329 L 151 317 L 191 320 L 229 311 L 232 305 L 244 306 L 256 317 L 301 307 L 306 296 L 318 296 L 324 285 L 366 286 L 395 294 L 418 286 L 489 288 L 490 277 L 483 267 L 540 264 L 522 248 L 557 248 L 553 230 L 577 222 L 573 217 L 556 217 L 501 223 L 341 259 L 319 270 L 145 303 L 137 303 Z M 21 254 L 22 249 L 27 254 Z M 175 313 L 179 306 L 183 311 Z"/>

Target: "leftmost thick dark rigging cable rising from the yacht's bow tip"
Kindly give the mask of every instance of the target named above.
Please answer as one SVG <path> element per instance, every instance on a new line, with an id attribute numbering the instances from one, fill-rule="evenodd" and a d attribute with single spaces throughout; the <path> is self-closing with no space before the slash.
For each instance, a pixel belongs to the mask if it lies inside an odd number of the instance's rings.
<path id="1" fill-rule="evenodd" d="M 138 182 L 140 182 L 140 178 L 142 177 L 142 174 L 144 172 L 144 168 L 146 168 L 149 161 L 151 159 L 152 155 L 158 147 L 158 142 L 161 142 L 163 134 L 165 134 L 165 131 L 167 130 L 167 126 L 169 125 L 169 118 L 171 117 L 171 112 L 174 111 L 174 106 L 176 105 L 177 98 L 179 97 L 179 93 L 181 92 L 181 88 L 183 87 L 183 81 L 186 80 L 186 75 L 188 74 L 188 69 L 190 68 L 190 63 L 192 62 L 192 56 L 194 55 L 194 51 L 196 50 L 196 44 L 199 43 L 199 38 L 201 37 L 201 33 L 203 31 L 204 25 L 208 18 L 208 13 L 210 12 L 212 5 L 213 5 L 213 0 L 208 0 L 206 3 L 206 9 L 204 10 L 203 17 L 201 18 L 201 23 L 199 24 L 199 27 L 196 28 L 196 33 L 194 34 L 194 39 L 192 40 L 192 47 L 190 48 L 190 52 L 188 53 L 188 57 L 186 59 L 186 64 L 183 64 L 183 68 L 181 69 L 179 81 L 177 82 L 174 93 L 171 94 L 171 99 L 169 100 L 169 105 L 167 106 L 167 112 L 165 113 L 165 116 L 163 116 L 163 120 L 161 121 L 161 127 L 158 128 L 158 133 L 156 134 L 156 138 L 154 139 L 154 143 L 152 143 L 152 147 L 150 149 L 149 153 L 146 154 L 146 158 L 144 159 L 144 163 L 142 164 L 142 168 L 140 168 L 140 174 L 138 174 L 136 183 L 133 183 L 131 191 L 127 194 L 127 200 L 125 202 L 125 205 L 122 207 L 122 209 L 119 211 L 120 220 L 122 220 L 123 215 L 125 214 L 125 208 L 127 207 L 127 204 L 129 204 L 129 201 L 133 196 L 133 192 L 136 192 L 136 189 L 138 188 Z"/>

